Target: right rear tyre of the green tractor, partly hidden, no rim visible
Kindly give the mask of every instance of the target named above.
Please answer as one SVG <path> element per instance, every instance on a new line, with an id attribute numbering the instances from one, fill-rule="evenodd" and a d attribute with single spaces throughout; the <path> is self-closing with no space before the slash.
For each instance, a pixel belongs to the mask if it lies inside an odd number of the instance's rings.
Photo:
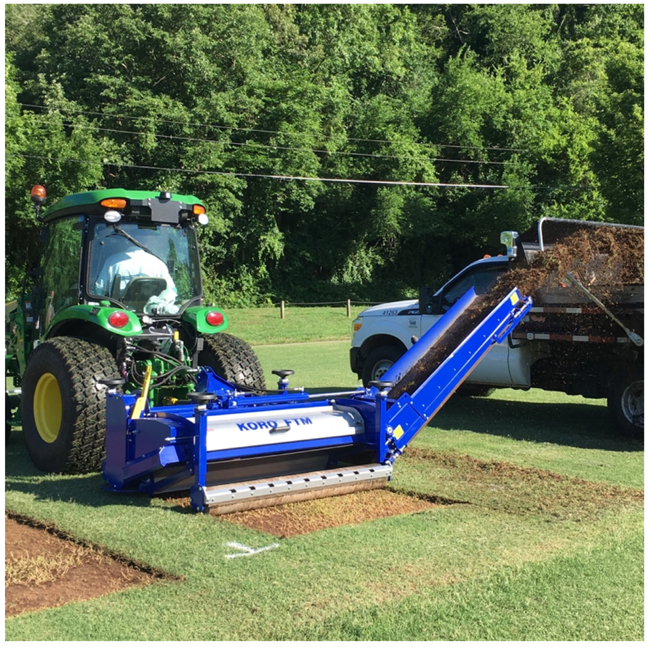
<path id="1" fill-rule="evenodd" d="M 203 339 L 203 350 L 199 353 L 199 365 L 211 367 L 224 380 L 265 391 L 264 372 L 259 359 L 250 346 L 228 333 L 214 333 Z"/>

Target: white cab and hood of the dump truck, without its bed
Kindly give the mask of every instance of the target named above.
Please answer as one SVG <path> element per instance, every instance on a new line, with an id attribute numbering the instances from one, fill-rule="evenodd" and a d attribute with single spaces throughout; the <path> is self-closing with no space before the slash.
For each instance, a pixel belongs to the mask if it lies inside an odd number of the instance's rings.
<path id="1" fill-rule="evenodd" d="M 364 385 L 380 380 L 383 374 L 428 331 L 469 288 L 485 294 L 508 270 L 506 256 L 487 257 L 463 268 L 437 291 L 420 289 L 419 300 L 404 300 L 380 304 L 365 309 L 352 325 L 350 368 Z M 530 376 L 521 370 L 511 372 L 509 356 L 517 345 L 508 337 L 495 344 L 465 380 L 465 389 L 480 394 L 486 385 L 527 387 Z M 521 363 L 516 363 L 521 367 Z"/>

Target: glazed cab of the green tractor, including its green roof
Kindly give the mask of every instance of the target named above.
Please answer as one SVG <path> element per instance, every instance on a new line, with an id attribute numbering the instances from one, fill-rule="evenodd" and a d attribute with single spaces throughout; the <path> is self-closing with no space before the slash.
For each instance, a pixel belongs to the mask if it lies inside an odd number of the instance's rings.
<path id="1" fill-rule="evenodd" d="M 207 216 L 193 196 L 87 192 L 57 201 L 41 220 L 34 305 L 43 311 L 45 330 L 77 304 L 152 317 L 178 316 L 201 304 L 195 224 L 207 223 Z"/>

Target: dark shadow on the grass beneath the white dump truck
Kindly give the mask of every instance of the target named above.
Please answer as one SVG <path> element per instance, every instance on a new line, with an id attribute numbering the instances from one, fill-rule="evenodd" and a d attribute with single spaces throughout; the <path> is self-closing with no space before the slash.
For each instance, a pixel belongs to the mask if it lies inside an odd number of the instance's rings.
<path id="1" fill-rule="evenodd" d="M 643 440 L 619 432 L 607 408 L 590 403 L 539 403 L 455 395 L 430 425 L 520 441 L 612 452 L 642 452 Z"/>

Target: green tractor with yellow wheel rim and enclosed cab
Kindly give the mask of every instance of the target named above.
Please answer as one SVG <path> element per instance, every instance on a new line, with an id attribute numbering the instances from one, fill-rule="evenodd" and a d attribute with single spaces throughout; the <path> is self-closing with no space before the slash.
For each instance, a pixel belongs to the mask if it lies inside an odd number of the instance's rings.
<path id="1" fill-rule="evenodd" d="M 41 213 L 38 267 L 5 305 L 6 436 L 21 425 L 47 473 L 99 471 L 105 391 L 146 392 L 155 405 L 190 402 L 198 367 L 242 391 L 264 391 L 252 348 L 202 305 L 194 196 L 124 189 L 74 194 Z"/>

